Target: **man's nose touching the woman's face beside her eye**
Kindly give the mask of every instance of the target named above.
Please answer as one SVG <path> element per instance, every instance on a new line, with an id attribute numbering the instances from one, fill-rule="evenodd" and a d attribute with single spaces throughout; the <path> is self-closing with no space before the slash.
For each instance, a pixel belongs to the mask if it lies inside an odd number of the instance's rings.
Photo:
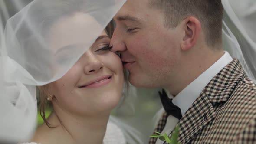
<path id="1" fill-rule="evenodd" d="M 124 36 L 122 35 L 122 33 L 119 33 L 118 28 L 115 28 L 115 31 L 110 41 L 110 46 L 113 46 L 111 51 L 115 53 L 122 53 L 125 50 L 127 50 L 124 41 Z"/>

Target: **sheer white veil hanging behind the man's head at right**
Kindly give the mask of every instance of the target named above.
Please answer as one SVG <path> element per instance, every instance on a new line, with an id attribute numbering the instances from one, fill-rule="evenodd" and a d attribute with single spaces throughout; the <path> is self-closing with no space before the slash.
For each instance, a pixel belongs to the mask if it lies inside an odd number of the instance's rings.
<path id="1" fill-rule="evenodd" d="M 240 61 L 256 82 L 256 1 L 222 0 L 223 49 Z"/>

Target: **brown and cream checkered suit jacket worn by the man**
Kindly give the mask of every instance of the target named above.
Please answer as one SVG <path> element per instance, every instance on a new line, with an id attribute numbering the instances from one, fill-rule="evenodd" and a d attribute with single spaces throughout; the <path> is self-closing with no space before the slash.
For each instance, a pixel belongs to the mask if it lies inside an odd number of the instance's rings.
<path id="1" fill-rule="evenodd" d="M 166 119 L 164 113 L 156 131 L 163 130 Z M 181 144 L 256 144 L 256 85 L 238 60 L 207 84 L 178 125 Z"/>

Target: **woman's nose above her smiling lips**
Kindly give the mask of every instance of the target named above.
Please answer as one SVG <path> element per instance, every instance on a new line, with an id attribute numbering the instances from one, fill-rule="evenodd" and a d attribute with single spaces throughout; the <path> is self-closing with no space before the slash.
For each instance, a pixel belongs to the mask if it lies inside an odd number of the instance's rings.
<path id="1" fill-rule="evenodd" d="M 84 60 L 86 61 L 84 66 L 84 72 L 87 75 L 97 73 L 104 66 L 103 63 L 91 52 L 85 53 Z"/>

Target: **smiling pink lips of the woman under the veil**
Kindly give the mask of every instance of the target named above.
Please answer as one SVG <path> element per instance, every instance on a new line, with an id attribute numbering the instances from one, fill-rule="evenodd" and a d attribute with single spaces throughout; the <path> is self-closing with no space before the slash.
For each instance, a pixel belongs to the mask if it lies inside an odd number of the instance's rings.
<path id="1" fill-rule="evenodd" d="M 97 78 L 91 82 L 88 82 L 85 85 L 81 85 L 79 86 L 79 88 L 98 88 L 103 85 L 107 85 L 109 82 L 111 82 L 111 80 L 112 80 L 112 75 L 106 75 L 106 76 Z"/>

